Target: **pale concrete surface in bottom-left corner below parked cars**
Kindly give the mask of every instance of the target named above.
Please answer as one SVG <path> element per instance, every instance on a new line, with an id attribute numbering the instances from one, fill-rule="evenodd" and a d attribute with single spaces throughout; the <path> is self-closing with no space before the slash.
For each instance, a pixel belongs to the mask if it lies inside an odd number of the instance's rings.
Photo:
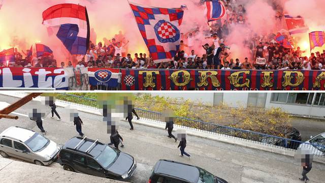
<path id="1" fill-rule="evenodd" d="M 101 178 L 63 170 L 61 167 L 45 167 L 0 157 L 0 182 L 6 183 L 121 183 L 122 181 Z"/>

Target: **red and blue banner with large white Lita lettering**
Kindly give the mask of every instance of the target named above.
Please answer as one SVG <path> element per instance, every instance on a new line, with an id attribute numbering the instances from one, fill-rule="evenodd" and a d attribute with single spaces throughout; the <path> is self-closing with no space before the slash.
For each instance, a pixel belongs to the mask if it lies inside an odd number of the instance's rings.
<path id="1" fill-rule="evenodd" d="M 68 89 L 63 68 L 0 67 L 0 87 Z"/>

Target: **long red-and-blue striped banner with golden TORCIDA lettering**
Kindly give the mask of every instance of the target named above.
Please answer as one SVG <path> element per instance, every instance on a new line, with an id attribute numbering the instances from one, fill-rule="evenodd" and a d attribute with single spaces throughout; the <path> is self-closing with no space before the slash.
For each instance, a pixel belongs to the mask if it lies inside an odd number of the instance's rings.
<path id="1" fill-rule="evenodd" d="M 122 70 L 122 90 L 324 90 L 325 71 Z"/>

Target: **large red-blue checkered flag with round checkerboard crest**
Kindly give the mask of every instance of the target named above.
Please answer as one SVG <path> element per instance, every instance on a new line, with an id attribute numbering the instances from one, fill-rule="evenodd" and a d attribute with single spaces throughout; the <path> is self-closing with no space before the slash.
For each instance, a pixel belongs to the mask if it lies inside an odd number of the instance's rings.
<path id="1" fill-rule="evenodd" d="M 170 61 L 180 47 L 179 26 L 184 11 L 129 4 L 154 62 Z"/>

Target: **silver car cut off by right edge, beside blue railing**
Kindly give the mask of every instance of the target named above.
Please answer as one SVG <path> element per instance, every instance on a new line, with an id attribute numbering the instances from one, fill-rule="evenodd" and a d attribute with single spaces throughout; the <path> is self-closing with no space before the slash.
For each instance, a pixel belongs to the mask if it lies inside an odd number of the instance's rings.
<path id="1" fill-rule="evenodd" d="M 310 150 L 314 155 L 325 156 L 325 132 L 300 144 L 299 149 Z"/>

